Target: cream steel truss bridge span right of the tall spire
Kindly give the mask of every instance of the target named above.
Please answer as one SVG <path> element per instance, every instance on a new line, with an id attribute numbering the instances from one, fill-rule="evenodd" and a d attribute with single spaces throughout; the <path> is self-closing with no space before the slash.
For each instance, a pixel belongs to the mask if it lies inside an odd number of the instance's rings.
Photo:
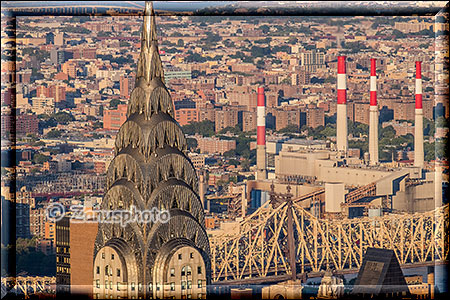
<path id="1" fill-rule="evenodd" d="M 295 273 L 359 269 L 369 247 L 394 250 L 402 265 L 447 261 L 448 225 L 448 204 L 426 213 L 326 220 L 295 202 L 273 208 L 268 201 L 239 233 L 210 237 L 213 281 L 292 274 L 289 231 Z"/>

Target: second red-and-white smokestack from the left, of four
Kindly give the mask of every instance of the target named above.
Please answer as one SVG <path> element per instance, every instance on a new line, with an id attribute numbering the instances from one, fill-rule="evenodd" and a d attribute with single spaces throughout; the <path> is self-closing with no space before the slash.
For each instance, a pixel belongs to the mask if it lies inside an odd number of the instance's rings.
<path id="1" fill-rule="evenodd" d="M 336 143 L 337 150 L 343 152 L 344 155 L 347 156 L 347 74 L 345 67 L 345 58 L 345 56 L 338 56 Z"/>

